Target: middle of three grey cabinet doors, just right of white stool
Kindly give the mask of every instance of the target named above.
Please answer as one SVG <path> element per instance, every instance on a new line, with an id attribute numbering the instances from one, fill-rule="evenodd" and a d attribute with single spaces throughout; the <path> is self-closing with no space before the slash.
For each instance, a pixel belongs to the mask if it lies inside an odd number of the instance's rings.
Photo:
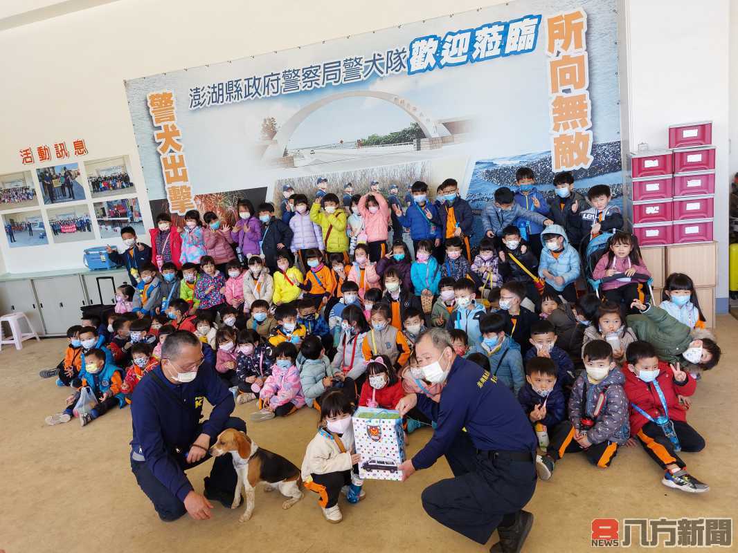
<path id="1" fill-rule="evenodd" d="M 66 329 L 80 324 L 85 305 L 85 292 L 79 275 L 33 279 L 33 287 L 44 317 L 46 334 L 63 335 Z"/>

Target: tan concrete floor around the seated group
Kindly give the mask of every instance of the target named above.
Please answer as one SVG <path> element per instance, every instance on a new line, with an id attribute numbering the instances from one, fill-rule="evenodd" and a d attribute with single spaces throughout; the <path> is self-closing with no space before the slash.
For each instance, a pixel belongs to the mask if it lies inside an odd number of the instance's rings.
<path id="1" fill-rule="evenodd" d="M 738 321 L 717 319 L 723 361 L 700 382 L 689 421 L 706 437 L 702 453 L 684 454 L 689 469 L 710 484 L 704 495 L 670 490 L 661 470 L 638 448 L 624 448 L 607 470 L 583 456 L 565 457 L 553 479 L 539 482 L 528 504 L 536 522 L 527 552 L 591 551 L 593 518 L 738 516 L 735 431 L 738 391 L 732 374 L 738 361 Z M 736 340 L 736 342 L 733 342 Z M 80 428 L 77 420 L 48 427 L 44 417 L 60 411 L 69 389 L 38 378 L 38 369 L 56 364 L 66 340 L 27 341 L 21 352 L 0 353 L 0 549 L 7 553 L 92 552 L 113 548 L 130 552 L 277 551 L 292 552 L 481 552 L 478 546 L 429 518 L 421 491 L 450 476 L 440 460 L 407 482 L 367 481 L 365 501 L 340 505 L 341 524 L 323 520 L 316 496 L 307 493 L 289 511 L 278 495 L 257 490 L 251 521 L 240 524 L 241 509 L 215 505 L 210 521 L 187 516 L 159 521 L 140 492 L 128 464 L 130 411 L 111 411 Z M 253 403 L 236 406 L 244 418 Z M 249 423 L 258 445 L 300 465 L 314 434 L 316 412 L 303 408 L 292 417 Z M 430 439 L 430 429 L 410 436 L 410 454 Z M 210 463 L 188 475 L 196 490 Z M 490 543 L 496 541 L 493 536 Z M 631 547 L 631 550 L 640 550 Z M 651 549 L 653 550 L 653 549 Z M 660 549 L 658 549 L 660 550 Z"/>

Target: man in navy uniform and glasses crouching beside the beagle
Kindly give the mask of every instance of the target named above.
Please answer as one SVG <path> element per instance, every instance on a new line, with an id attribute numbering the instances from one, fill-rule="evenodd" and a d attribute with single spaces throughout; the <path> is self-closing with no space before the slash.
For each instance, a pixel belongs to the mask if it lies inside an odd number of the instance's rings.
<path id="1" fill-rule="evenodd" d="M 204 399 L 213 411 L 199 422 Z M 233 394 L 205 361 L 197 336 L 187 330 L 168 335 L 162 363 L 142 378 L 131 399 L 131 470 L 162 521 L 185 512 L 196 520 L 210 518 L 208 499 L 231 507 L 237 476 L 230 455 L 213 461 L 204 495 L 184 471 L 210 459 L 210 446 L 226 428 L 246 431 L 243 420 L 230 416 L 234 407 Z"/>

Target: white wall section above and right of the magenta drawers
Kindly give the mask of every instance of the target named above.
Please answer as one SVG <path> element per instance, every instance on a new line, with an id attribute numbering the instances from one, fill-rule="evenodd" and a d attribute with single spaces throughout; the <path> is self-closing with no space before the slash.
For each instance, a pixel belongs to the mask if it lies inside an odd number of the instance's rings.
<path id="1" fill-rule="evenodd" d="M 674 123 L 713 122 L 720 312 L 728 310 L 729 4 L 728 0 L 625 0 L 627 37 L 623 38 L 630 55 L 627 88 L 621 91 L 627 94 L 631 150 L 641 142 L 652 149 L 667 147 L 667 128 Z"/>

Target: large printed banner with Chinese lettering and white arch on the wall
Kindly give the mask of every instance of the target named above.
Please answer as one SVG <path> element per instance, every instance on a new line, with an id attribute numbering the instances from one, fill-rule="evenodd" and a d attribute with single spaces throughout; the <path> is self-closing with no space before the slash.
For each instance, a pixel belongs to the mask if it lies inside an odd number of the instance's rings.
<path id="1" fill-rule="evenodd" d="M 481 209 L 523 165 L 545 195 L 573 170 L 618 198 L 616 15 L 615 0 L 520 0 L 130 80 L 152 211 L 232 219 L 238 198 L 312 198 L 319 178 L 404 195 L 449 177 Z"/>

